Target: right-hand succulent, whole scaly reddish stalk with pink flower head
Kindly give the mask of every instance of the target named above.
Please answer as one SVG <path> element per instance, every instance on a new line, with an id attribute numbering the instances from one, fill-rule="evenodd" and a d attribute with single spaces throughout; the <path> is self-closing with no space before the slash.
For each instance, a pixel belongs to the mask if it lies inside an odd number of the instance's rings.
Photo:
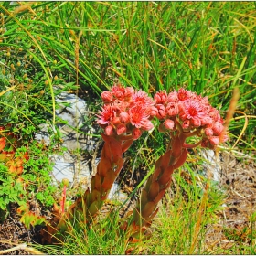
<path id="1" fill-rule="evenodd" d="M 196 93 L 180 89 L 168 95 L 165 91 L 155 94 L 155 116 L 162 121 L 160 132 L 170 133 L 170 143 L 164 155 L 155 163 L 155 171 L 149 176 L 140 199 L 133 209 L 132 218 L 125 221 L 121 229 L 129 230 L 133 240 L 151 225 L 157 213 L 157 204 L 171 184 L 175 169 L 187 159 L 187 148 L 215 148 L 223 131 L 223 120 L 219 112 Z M 196 144 L 187 144 L 188 137 L 198 136 Z M 224 135 L 224 141 L 227 134 Z"/>

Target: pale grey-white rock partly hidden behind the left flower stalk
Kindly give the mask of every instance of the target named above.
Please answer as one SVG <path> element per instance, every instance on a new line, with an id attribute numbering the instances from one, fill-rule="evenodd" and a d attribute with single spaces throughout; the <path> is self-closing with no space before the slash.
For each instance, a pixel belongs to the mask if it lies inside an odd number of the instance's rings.
<path id="1" fill-rule="evenodd" d="M 70 185 L 86 180 L 84 187 L 90 185 L 92 170 L 89 161 L 82 159 L 80 154 L 75 154 L 77 150 L 93 151 L 99 139 L 92 137 L 92 133 L 97 133 L 98 127 L 83 127 L 84 116 L 88 112 L 87 104 L 74 94 L 62 92 L 56 99 L 59 107 L 56 110 L 58 117 L 58 128 L 62 134 L 62 146 L 67 148 L 63 155 L 51 155 L 50 159 L 55 163 L 53 166 L 53 183 L 61 182 L 63 178 L 68 178 Z M 36 134 L 36 140 L 44 140 L 45 144 L 50 143 L 48 128 L 50 124 L 41 124 L 41 131 Z M 79 130 L 78 130 L 79 129 Z M 100 159 L 95 160 L 95 165 Z M 92 164 L 92 163 L 91 163 Z M 124 201 L 127 196 L 120 191 L 118 184 L 112 186 L 109 198 Z"/>

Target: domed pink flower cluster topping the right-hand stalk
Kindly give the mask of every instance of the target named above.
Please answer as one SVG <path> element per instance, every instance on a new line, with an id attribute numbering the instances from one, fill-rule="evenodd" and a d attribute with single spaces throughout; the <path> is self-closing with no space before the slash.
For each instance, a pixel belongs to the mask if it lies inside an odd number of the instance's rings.
<path id="1" fill-rule="evenodd" d="M 223 119 L 219 111 L 209 104 L 208 97 L 179 89 L 168 94 L 166 91 L 156 92 L 154 100 L 155 116 L 162 121 L 159 126 L 161 132 L 176 131 L 177 126 L 181 126 L 185 133 L 198 132 L 193 134 L 201 136 L 201 146 L 208 148 L 227 141 L 227 134 L 222 134 Z"/>

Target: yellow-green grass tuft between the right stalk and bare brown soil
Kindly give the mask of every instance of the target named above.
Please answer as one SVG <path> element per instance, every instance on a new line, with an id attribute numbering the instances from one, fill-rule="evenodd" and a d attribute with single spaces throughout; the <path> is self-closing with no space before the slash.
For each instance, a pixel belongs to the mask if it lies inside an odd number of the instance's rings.
<path id="1" fill-rule="evenodd" d="M 197 182 L 197 177 L 190 170 L 191 184 L 176 173 L 176 193 L 167 197 L 165 205 L 155 219 L 156 234 L 152 239 L 154 254 L 205 254 L 205 234 L 208 225 L 215 223 L 217 213 L 225 195 L 216 185 L 206 180 Z M 201 185 L 201 186 L 200 186 Z M 203 186 L 203 187 L 202 187 Z M 208 188 L 207 188 L 208 186 Z M 161 243 L 157 242 L 161 240 Z M 155 242 L 154 242 L 155 241 Z"/>

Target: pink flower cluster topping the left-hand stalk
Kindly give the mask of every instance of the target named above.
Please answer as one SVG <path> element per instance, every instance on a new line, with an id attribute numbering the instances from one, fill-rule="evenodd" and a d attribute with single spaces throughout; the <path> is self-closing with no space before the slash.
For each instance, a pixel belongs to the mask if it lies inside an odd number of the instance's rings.
<path id="1" fill-rule="evenodd" d="M 144 91 L 134 91 L 132 87 L 124 88 L 114 85 L 111 91 L 103 91 L 104 102 L 98 115 L 98 121 L 107 135 L 132 133 L 138 139 L 143 131 L 151 130 L 154 125 L 154 101 Z"/>

